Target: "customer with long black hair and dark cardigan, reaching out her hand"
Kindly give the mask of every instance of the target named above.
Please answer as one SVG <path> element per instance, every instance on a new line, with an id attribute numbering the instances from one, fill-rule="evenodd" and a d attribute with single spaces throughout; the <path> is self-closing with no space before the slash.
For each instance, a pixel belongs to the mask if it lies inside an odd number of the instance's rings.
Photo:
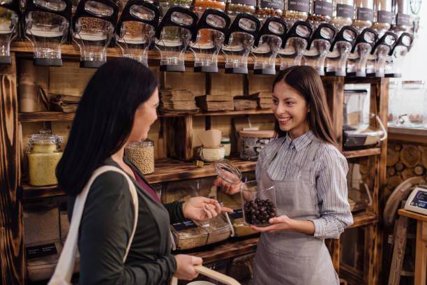
<path id="1" fill-rule="evenodd" d="M 135 184 L 138 216 L 126 177 L 108 171 L 94 180 L 80 222 L 80 284 L 167 284 L 172 276 L 193 279 L 201 258 L 170 253 L 170 223 L 205 221 L 219 212 L 216 200 L 191 198 L 162 205 L 140 171 L 124 156 L 131 142 L 144 140 L 156 121 L 158 82 L 132 59 L 108 61 L 89 81 L 77 109 L 68 143 L 57 167 L 59 187 L 68 195 L 71 217 L 76 196 L 101 166 L 121 168 Z"/>

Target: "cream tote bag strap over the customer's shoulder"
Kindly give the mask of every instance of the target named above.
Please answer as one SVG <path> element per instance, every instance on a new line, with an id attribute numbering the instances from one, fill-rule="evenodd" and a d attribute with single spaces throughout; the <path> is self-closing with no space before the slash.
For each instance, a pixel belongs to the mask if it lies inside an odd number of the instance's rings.
<path id="1" fill-rule="evenodd" d="M 128 256 L 128 252 L 130 249 L 130 244 L 132 244 L 133 235 L 135 235 L 135 230 L 137 226 L 137 218 L 138 218 L 138 197 L 137 191 L 135 189 L 135 185 L 132 180 L 124 173 L 123 170 L 115 167 L 115 166 L 101 166 L 96 169 L 83 191 L 77 195 L 73 208 L 73 217 L 71 218 L 70 231 L 68 231 L 66 242 L 63 246 L 61 256 L 59 256 L 59 261 L 57 264 L 57 268 L 55 268 L 54 275 L 50 279 L 49 285 L 66 285 L 70 284 L 71 277 L 73 275 L 73 269 L 75 264 L 75 256 L 77 253 L 77 240 L 79 235 L 80 221 L 82 221 L 82 215 L 84 210 L 84 203 L 86 203 L 87 194 L 89 193 L 89 189 L 92 186 L 93 181 L 96 180 L 96 177 L 99 175 L 106 173 L 107 171 L 114 171 L 121 173 L 126 177 L 126 180 L 129 184 L 130 195 L 132 196 L 133 201 L 133 210 L 135 221 L 133 222 L 133 231 L 130 235 L 128 246 L 126 247 L 125 255 L 123 256 L 123 263 L 126 261 L 126 257 Z"/>

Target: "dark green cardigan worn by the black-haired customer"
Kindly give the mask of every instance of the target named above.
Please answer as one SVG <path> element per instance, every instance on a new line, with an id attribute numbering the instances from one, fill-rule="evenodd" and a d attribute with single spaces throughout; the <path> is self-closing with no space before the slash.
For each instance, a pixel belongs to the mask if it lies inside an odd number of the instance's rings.
<path id="1" fill-rule="evenodd" d="M 125 162 L 143 177 L 132 163 Z M 117 166 L 112 159 L 105 165 Z M 133 179 L 132 179 L 133 180 Z M 182 204 L 161 205 L 133 180 L 139 212 L 132 245 L 123 256 L 133 229 L 133 203 L 126 178 L 107 172 L 93 182 L 80 224 L 79 284 L 168 284 L 177 263 L 170 253 L 171 223 L 183 221 Z M 71 217 L 75 197 L 68 198 Z"/>

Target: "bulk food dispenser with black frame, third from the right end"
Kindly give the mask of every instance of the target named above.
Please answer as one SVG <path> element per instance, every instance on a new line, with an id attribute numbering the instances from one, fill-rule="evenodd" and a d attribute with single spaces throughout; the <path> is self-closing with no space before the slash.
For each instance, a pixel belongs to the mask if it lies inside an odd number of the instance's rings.
<path id="1" fill-rule="evenodd" d="M 370 28 L 364 29 L 357 36 L 352 53 L 347 60 L 348 76 L 366 77 L 366 62 L 377 39 L 377 32 Z"/>

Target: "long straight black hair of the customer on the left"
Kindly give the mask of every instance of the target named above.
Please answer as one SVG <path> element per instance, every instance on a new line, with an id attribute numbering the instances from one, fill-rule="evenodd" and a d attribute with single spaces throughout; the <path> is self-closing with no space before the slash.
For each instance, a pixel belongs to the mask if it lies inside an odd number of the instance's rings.
<path id="1" fill-rule="evenodd" d="M 135 111 L 157 85 L 149 68 L 133 59 L 113 59 L 96 71 L 84 90 L 57 166 L 61 190 L 70 196 L 80 193 L 93 171 L 123 147 Z"/>

